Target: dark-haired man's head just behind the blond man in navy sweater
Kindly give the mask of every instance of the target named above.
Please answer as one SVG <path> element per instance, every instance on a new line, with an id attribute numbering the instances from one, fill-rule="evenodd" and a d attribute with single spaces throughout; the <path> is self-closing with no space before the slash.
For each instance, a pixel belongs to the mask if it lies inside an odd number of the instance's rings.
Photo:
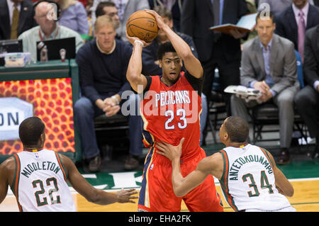
<path id="1" fill-rule="evenodd" d="M 101 1 L 96 7 L 95 11 L 96 18 L 103 15 L 108 15 L 112 18 L 113 22 L 116 24 L 116 29 L 120 26 L 120 18 L 118 17 L 118 9 L 113 1 Z M 116 34 L 116 38 L 121 38 Z"/>

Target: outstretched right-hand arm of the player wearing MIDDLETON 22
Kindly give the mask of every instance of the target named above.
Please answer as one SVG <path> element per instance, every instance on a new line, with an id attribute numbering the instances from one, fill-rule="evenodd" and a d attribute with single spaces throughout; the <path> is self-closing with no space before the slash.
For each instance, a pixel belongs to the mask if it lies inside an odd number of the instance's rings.
<path id="1" fill-rule="evenodd" d="M 77 167 L 74 163 L 63 154 L 60 154 L 60 158 L 63 166 L 67 170 L 67 175 L 69 182 L 72 187 L 86 200 L 89 200 L 91 203 L 96 203 L 99 205 L 108 205 L 111 203 L 135 203 L 132 199 L 138 198 L 135 195 L 138 193 L 135 189 L 122 190 L 117 193 L 111 193 L 102 191 L 100 189 L 94 188 L 91 184 L 84 179 L 84 177 L 79 173 Z"/>

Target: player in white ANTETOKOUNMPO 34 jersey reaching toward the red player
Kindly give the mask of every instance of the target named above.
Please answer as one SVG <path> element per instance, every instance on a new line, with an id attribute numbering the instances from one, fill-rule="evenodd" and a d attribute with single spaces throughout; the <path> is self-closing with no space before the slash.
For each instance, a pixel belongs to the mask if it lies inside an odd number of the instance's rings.
<path id="1" fill-rule="evenodd" d="M 159 154 L 172 161 L 172 183 L 176 196 L 185 196 L 209 174 L 220 181 L 225 200 L 235 211 L 295 212 L 285 196 L 293 196 L 293 186 L 276 167 L 266 149 L 247 142 L 248 123 L 240 117 L 226 118 L 220 127 L 220 142 L 226 145 L 206 157 L 187 176 L 181 175 L 179 158 L 184 138 L 178 146 L 157 143 Z"/>

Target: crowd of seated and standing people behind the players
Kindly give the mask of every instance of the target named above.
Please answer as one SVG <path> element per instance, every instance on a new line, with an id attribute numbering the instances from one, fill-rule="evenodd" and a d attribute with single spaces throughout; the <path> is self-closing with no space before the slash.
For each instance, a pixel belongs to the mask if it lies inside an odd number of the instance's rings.
<path id="1" fill-rule="evenodd" d="M 52 9 L 48 4 L 55 4 L 57 8 L 57 18 L 53 21 L 46 16 Z M 22 39 L 23 52 L 31 52 L 33 60 L 35 41 L 76 38 L 82 98 L 74 103 L 74 123 L 79 129 L 83 157 L 90 171 L 99 171 L 101 166 L 94 117 L 120 113 L 116 106 L 124 102 L 121 94 L 130 90 L 125 73 L 132 47 L 125 37 L 126 21 L 142 9 L 157 11 L 201 61 L 204 71 L 202 130 L 206 125 L 208 103 L 213 101 L 211 90 L 218 69 L 222 89 L 230 85 L 265 89 L 263 102 L 272 100 L 279 107 L 279 164 L 289 162 L 295 112 L 301 114 L 310 137 L 315 138 L 313 157 L 319 157 L 318 0 L 53 0 L 44 3 L 0 0 L 0 40 Z M 224 23 L 236 24 L 248 13 L 267 9 L 273 13 L 274 23 L 258 24 L 250 33 L 231 30 L 224 34 L 208 29 Z M 161 74 L 156 54 L 158 46 L 165 41 L 167 38 L 159 33 L 152 44 L 144 48 L 143 73 Z M 304 87 L 297 78 L 299 56 Z M 247 108 L 252 106 L 230 94 L 223 96 L 228 115 L 249 120 Z M 130 100 L 138 101 L 138 96 L 130 96 Z M 142 120 L 132 117 L 129 122 L 132 131 L 125 169 L 136 169 L 142 164 L 142 135 L 136 132 L 142 130 Z"/>

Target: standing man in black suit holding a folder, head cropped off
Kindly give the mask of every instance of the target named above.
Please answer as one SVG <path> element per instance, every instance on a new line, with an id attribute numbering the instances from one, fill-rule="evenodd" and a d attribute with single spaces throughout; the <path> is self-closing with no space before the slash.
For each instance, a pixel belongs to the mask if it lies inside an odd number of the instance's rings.
<path id="1" fill-rule="evenodd" d="M 208 100 L 211 97 L 216 67 L 223 89 L 240 83 L 240 38 L 247 35 L 237 30 L 234 30 L 233 35 L 213 33 L 209 28 L 223 23 L 236 24 L 241 16 L 249 13 L 245 0 L 213 1 L 219 1 L 219 9 L 213 7 L 215 4 L 212 0 L 184 0 L 181 11 L 181 32 L 194 39 L 199 60 L 203 64 L 203 93 Z M 225 100 L 228 103 L 228 115 L 229 97 Z"/>

